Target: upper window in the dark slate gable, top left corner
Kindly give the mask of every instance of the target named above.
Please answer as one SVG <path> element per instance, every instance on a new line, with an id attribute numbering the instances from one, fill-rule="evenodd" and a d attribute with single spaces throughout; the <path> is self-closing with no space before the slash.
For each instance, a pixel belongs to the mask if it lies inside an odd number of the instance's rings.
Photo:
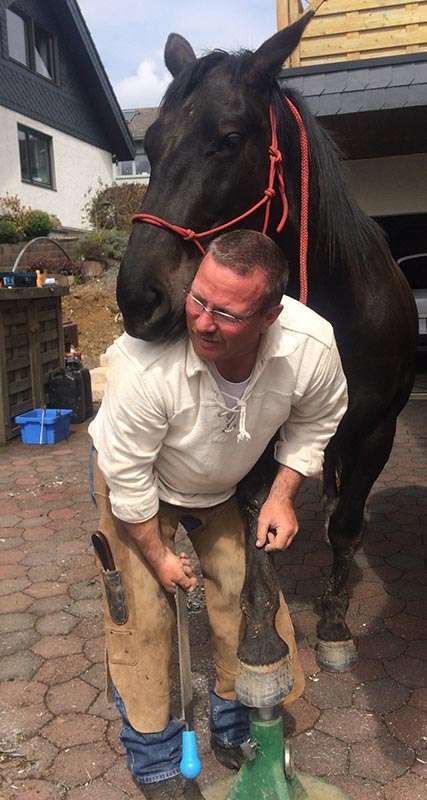
<path id="1" fill-rule="evenodd" d="M 56 79 L 55 41 L 51 33 L 18 11 L 6 10 L 9 58 L 50 81 Z"/>

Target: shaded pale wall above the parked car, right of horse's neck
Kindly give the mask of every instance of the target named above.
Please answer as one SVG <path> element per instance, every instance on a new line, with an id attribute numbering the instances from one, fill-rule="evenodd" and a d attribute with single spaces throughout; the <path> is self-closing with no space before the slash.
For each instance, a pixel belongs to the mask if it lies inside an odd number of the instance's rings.
<path id="1" fill-rule="evenodd" d="M 348 183 L 373 217 L 427 212 L 427 154 L 347 161 Z"/>

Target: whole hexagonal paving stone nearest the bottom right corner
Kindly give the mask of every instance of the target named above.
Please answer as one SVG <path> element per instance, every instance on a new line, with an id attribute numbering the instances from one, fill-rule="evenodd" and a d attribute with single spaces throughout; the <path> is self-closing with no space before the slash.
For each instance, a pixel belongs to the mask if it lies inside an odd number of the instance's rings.
<path id="1" fill-rule="evenodd" d="M 393 736 L 380 736 L 352 746 L 350 774 L 386 784 L 403 775 L 413 762 L 413 750 Z"/>

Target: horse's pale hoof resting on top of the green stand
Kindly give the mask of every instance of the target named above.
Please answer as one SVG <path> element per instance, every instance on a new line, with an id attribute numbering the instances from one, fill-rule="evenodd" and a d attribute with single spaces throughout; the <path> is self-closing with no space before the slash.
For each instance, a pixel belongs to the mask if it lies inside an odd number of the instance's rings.
<path id="1" fill-rule="evenodd" d="M 236 678 L 237 699 L 249 708 L 269 708 L 281 703 L 294 685 L 289 659 L 268 666 L 240 662 Z"/>

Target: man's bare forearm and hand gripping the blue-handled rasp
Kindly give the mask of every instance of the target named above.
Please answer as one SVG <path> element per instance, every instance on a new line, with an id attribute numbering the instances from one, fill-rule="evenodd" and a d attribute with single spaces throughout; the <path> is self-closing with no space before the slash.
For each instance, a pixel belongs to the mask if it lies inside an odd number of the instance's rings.
<path id="1" fill-rule="evenodd" d="M 174 592 L 177 586 L 186 592 L 195 588 L 197 578 L 193 575 L 190 559 L 186 553 L 175 555 L 164 544 L 157 514 L 146 522 L 123 524 L 167 592 Z"/>

